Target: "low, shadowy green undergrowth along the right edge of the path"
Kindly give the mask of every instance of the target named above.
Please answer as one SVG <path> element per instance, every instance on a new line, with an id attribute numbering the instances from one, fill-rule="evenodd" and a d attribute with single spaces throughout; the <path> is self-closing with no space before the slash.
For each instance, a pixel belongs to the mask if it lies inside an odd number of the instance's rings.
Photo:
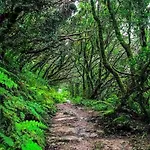
<path id="1" fill-rule="evenodd" d="M 99 120 L 97 125 L 103 126 L 108 134 L 147 134 L 149 132 L 149 124 L 140 118 L 142 114 L 137 103 L 132 104 L 132 111 L 135 114 L 130 114 L 126 111 L 118 111 L 117 106 L 120 105 L 120 101 L 116 95 L 112 95 L 105 101 L 75 97 L 72 98 L 72 102 L 97 111 L 99 113 L 98 118 L 95 118 Z"/>

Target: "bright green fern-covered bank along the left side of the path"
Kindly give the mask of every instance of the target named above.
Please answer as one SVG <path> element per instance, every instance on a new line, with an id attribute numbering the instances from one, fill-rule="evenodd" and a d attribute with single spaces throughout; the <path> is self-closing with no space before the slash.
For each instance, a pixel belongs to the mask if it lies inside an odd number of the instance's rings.
<path id="1" fill-rule="evenodd" d="M 24 71 L 14 74 L 0 67 L 0 150 L 42 150 L 47 118 L 64 95 L 46 80 Z"/>

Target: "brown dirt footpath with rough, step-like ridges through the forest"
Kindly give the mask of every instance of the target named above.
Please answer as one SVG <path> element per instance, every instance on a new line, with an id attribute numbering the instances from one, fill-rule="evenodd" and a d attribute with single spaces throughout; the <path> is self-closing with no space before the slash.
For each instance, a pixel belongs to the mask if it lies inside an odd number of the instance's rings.
<path id="1" fill-rule="evenodd" d="M 96 115 L 72 104 L 59 104 L 46 150 L 132 150 L 125 137 L 106 137 L 90 118 Z"/>

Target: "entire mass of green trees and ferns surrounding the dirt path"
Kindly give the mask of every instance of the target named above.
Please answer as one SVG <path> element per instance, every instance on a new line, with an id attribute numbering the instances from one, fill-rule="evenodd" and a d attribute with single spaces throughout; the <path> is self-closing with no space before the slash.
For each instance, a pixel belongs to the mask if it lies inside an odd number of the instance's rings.
<path id="1" fill-rule="evenodd" d="M 70 96 L 116 122 L 150 122 L 149 0 L 0 6 L 0 150 L 44 149 L 47 118 Z"/>

